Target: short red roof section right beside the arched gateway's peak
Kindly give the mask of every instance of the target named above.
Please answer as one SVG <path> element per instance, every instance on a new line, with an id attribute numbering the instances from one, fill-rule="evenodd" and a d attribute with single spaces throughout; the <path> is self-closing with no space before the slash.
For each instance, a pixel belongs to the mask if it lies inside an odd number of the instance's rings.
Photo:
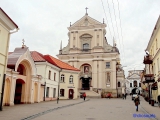
<path id="1" fill-rule="evenodd" d="M 31 56 L 32 56 L 32 58 L 33 58 L 33 60 L 34 60 L 35 62 L 43 62 L 43 61 L 46 61 L 46 60 L 44 59 L 44 56 L 43 56 L 41 53 L 37 52 L 37 51 L 31 51 Z"/>

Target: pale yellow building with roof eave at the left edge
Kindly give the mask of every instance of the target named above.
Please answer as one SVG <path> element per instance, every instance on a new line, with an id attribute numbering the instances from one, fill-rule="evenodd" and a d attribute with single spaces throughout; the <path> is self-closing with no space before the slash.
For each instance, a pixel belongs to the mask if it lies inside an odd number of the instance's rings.
<path id="1" fill-rule="evenodd" d="M 10 35 L 16 31 L 18 31 L 18 26 L 0 8 L 0 98 L 3 94 L 2 84 L 6 74 Z M 0 103 L 2 103 L 2 99 L 0 99 Z M 0 106 L 1 109 L 2 107 Z"/>

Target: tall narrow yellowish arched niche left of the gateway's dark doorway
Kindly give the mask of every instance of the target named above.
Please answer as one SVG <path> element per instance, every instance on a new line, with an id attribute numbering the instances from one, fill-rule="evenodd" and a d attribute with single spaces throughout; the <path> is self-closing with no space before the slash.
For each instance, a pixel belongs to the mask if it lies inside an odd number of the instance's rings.
<path id="1" fill-rule="evenodd" d="M 11 96 L 11 81 L 9 78 L 5 80 L 5 87 L 4 87 L 4 98 L 3 104 L 6 106 L 10 105 L 10 96 Z"/>

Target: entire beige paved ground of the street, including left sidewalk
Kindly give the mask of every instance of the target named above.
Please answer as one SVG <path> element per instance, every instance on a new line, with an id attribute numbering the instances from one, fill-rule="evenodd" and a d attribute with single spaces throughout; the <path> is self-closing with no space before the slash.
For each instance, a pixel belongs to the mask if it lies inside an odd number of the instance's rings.
<path id="1" fill-rule="evenodd" d="M 80 103 L 82 102 L 82 103 Z M 80 104 L 77 104 L 80 103 Z M 67 107 L 62 107 L 70 105 Z M 75 105 L 74 105 L 75 104 Z M 29 116 L 42 113 L 53 108 L 62 107 L 48 113 L 39 114 L 34 120 L 150 120 L 148 118 L 134 118 L 133 114 L 155 114 L 160 120 L 160 108 L 152 107 L 141 98 L 139 111 L 135 111 L 133 101 L 130 96 L 127 100 L 123 99 L 90 99 L 83 102 L 78 100 L 63 100 L 42 102 L 37 104 L 16 105 L 13 107 L 4 107 L 0 112 L 0 120 L 31 120 Z"/>

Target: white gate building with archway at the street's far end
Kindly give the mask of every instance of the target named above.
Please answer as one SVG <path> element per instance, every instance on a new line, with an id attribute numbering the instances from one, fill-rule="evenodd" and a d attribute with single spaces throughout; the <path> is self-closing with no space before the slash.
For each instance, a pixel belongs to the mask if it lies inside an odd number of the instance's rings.
<path id="1" fill-rule="evenodd" d="M 126 78 L 126 93 L 132 93 L 134 88 L 139 89 L 139 93 L 142 93 L 141 89 L 141 73 L 142 70 L 130 70 Z"/>

